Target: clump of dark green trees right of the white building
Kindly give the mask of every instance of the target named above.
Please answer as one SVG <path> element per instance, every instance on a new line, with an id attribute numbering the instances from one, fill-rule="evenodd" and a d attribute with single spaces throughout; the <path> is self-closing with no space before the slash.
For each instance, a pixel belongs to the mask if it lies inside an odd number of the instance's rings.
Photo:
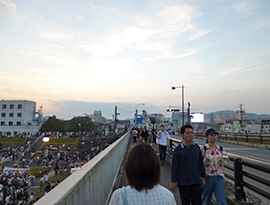
<path id="1" fill-rule="evenodd" d="M 95 125 L 89 117 L 74 117 L 71 120 L 60 120 L 54 116 L 44 122 L 40 132 L 84 132 L 95 130 Z"/>

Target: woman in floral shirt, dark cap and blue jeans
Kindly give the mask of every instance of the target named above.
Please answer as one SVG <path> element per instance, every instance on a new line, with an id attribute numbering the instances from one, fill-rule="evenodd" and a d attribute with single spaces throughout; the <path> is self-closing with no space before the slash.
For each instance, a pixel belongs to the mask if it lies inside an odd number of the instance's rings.
<path id="1" fill-rule="evenodd" d="M 202 205 L 210 205 L 213 192 L 217 205 L 227 205 L 225 197 L 224 162 L 228 157 L 222 156 L 223 147 L 216 144 L 218 132 L 210 128 L 206 131 L 206 142 L 201 147 L 206 170 L 206 185 L 202 192 Z M 225 158 L 226 157 L 226 158 Z"/>

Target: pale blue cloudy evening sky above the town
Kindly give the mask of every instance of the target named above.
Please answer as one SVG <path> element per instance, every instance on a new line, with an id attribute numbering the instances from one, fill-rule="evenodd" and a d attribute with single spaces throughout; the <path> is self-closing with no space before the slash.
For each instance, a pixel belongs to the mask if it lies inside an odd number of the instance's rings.
<path id="1" fill-rule="evenodd" d="M 270 114 L 268 0 L 0 0 L 0 96 L 70 119 Z M 139 105 L 145 103 L 145 105 Z M 138 105 L 138 106 L 137 106 Z"/>

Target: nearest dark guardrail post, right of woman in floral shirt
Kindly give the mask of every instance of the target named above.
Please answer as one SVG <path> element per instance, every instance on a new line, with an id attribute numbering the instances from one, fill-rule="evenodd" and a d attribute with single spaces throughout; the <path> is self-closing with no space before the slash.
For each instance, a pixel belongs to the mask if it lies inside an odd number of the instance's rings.
<path id="1" fill-rule="evenodd" d="M 242 159 L 237 158 L 234 160 L 234 189 L 235 189 L 235 200 L 238 202 L 246 201 L 246 195 L 244 192 L 244 181 L 243 181 L 243 168 Z"/>

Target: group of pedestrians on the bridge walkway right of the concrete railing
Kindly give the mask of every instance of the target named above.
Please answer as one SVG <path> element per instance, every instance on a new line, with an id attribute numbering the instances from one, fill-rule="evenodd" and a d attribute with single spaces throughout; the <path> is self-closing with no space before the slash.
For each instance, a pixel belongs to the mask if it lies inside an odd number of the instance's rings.
<path id="1" fill-rule="evenodd" d="M 170 134 L 163 125 L 160 131 L 133 128 L 132 138 L 136 145 L 126 161 L 125 170 L 129 186 L 116 190 L 110 200 L 116 204 L 176 204 L 174 196 L 160 183 L 160 165 L 165 163 Z M 206 131 L 206 144 L 196 144 L 193 127 L 184 125 L 179 130 L 183 140 L 174 149 L 171 165 L 171 191 L 179 190 L 182 205 L 210 205 L 213 193 L 218 205 L 226 205 L 224 163 L 229 158 L 223 147 L 216 144 L 218 132 L 210 128 Z M 159 146 L 159 166 L 157 155 L 153 155 L 153 139 Z M 152 146 L 151 146 L 152 145 Z M 136 154 L 134 154 L 136 153 Z M 143 155 L 143 156 L 142 156 Z M 145 167 L 148 165 L 148 168 Z M 130 172 L 130 169 L 136 170 Z M 155 170 L 155 175 L 152 170 Z M 140 174 L 138 174 L 140 173 Z M 160 190 L 163 190 L 162 193 Z M 156 199 L 159 200 L 156 200 Z M 150 200 L 151 199 L 151 200 Z"/>

